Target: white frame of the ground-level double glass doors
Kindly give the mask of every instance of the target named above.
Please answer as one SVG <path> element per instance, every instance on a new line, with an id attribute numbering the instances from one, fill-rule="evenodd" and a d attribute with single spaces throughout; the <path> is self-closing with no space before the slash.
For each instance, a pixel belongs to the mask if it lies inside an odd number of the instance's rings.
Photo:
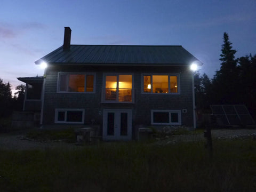
<path id="1" fill-rule="evenodd" d="M 108 113 L 115 113 L 115 124 L 119 123 L 119 125 L 120 125 L 120 117 L 121 117 L 120 114 L 127 113 L 127 135 L 125 136 L 120 135 L 120 133 L 117 131 L 120 129 L 120 126 L 118 125 L 115 125 L 114 135 L 107 135 Z M 117 117 L 117 115 L 119 117 Z M 105 141 L 131 140 L 132 139 L 132 110 L 131 109 L 103 109 L 102 139 Z"/>

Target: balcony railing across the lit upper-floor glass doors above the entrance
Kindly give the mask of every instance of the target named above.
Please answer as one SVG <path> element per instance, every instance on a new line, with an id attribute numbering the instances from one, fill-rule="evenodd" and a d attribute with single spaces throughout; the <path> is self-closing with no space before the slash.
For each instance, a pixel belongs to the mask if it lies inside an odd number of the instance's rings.
<path id="1" fill-rule="evenodd" d="M 102 89 L 101 102 L 103 103 L 133 103 L 133 89 Z"/>

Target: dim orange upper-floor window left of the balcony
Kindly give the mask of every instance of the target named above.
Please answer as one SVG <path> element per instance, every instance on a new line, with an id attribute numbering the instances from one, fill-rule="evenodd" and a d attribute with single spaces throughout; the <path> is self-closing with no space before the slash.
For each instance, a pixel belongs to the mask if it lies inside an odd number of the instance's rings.
<path id="1" fill-rule="evenodd" d="M 58 92 L 95 92 L 95 74 L 92 73 L 59 73 Z"/>

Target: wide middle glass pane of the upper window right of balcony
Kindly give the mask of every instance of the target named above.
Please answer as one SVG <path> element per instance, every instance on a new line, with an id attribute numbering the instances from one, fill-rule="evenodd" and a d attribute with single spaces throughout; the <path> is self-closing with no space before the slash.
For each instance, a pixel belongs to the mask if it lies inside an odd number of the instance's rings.
<path id="1" fill-rule="evenodd" d="M 168 76 L 153 75 L 153 93 L 168 93 Z"/>

